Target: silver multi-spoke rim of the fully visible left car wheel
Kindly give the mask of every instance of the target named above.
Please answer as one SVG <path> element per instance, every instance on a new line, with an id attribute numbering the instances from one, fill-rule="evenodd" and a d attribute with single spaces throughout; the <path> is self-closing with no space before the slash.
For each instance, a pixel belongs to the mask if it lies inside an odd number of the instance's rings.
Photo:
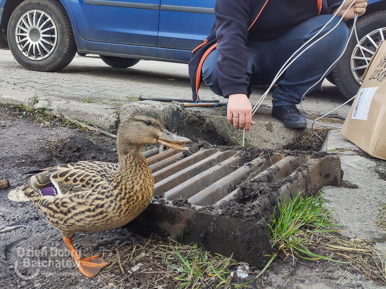
<path id="1" fill-rule="evenodd" d="M 24 13 L 17 22 L 15 32 L 17 47 L 29 59 L 46 59 L 55 50 L 58 40 L 56 25 L 41 10 Z"/>

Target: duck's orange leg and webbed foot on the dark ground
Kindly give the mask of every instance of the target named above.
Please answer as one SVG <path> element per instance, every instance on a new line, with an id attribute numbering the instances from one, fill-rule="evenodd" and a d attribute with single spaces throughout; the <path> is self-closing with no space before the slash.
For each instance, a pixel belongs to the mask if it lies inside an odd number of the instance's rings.
<path id="1" fill-rule="evenodd" d="M 66 243 L 67 245 L 69 252 L 71 253 L 71 256 L 75 261 L 75 264 L 78 266 L 80 273 L 82 273 L 84 276 L 92 278 L 97 275 L 101 268 L 108 265 L 106 262 L 104 262 L 103 258 L 100 258 L 101 260 L 96 260 L 99 255 L 80 259 L 78 252 L 74 248 L 73 238 L 64 237 L 63 239 L 64 243 Z M 90 262 L 91 260 L 94 260 L 94 262 Z M 98 261 L 100 263 L 98 263 Z"/>

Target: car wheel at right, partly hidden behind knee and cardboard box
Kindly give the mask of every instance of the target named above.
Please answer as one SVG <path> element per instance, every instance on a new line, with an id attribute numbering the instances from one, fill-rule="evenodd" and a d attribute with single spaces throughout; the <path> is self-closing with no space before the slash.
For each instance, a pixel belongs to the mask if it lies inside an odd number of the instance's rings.
<path id="1" fill-rule="evenodd" d="M 353 35 L 346 52 L 331 73 L 332 80 L 347 99 L 357 94 L 371 57 L 379 42 L 386 38 L 386 11 L 366 15 L 358 20 L 356 26 L 360 46 Z M 364 57 L 360 48 L 362 48 Z"/>

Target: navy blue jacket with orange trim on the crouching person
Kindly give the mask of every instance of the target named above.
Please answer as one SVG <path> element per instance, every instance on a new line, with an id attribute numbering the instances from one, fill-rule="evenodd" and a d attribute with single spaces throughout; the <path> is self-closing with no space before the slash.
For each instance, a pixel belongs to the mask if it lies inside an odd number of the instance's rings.
<path id="1" fill-rule="evenodd" d="M 198 102 L 202 63 L 217 49 L 219 85 L 224 97 L 247 94 L 248 41 L 272 41 L 300 23 L 329 14 L 341 0 L 217 0 L 216 20 L 203 44 L 192 51 L 189 76 Z"/>

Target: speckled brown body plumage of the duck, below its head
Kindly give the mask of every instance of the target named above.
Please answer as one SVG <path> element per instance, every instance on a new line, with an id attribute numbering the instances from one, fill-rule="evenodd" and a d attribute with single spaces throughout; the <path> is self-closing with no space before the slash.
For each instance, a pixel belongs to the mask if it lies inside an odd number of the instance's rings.
<path id="1" fill-rule="evenodd" d="M 154 193 L 154 180 L 142 154 L 128 154 L 120 161 L 120 167 L 80 161 L 31 177 L 33 182 L 45 184 L 46 175 L 50 175 L 62 193 L 56 196 L 41 196 L 29 185 L 20 190 L 65 237 L 76 231 L 117 228 L 141 213 Z"/>

